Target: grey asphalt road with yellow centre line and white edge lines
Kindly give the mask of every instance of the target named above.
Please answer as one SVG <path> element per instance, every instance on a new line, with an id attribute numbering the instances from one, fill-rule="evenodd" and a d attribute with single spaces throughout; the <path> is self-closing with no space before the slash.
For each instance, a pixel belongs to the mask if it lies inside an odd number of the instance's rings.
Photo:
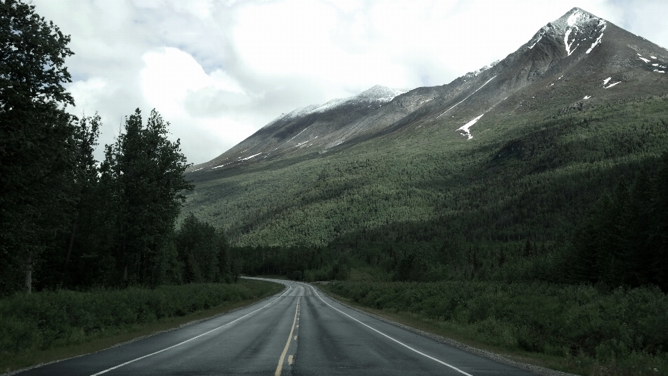
<path id="1" fill-rule="evenodd" d="M 276 282 L 253 306 L 19 375 L 533 375 Z"/>

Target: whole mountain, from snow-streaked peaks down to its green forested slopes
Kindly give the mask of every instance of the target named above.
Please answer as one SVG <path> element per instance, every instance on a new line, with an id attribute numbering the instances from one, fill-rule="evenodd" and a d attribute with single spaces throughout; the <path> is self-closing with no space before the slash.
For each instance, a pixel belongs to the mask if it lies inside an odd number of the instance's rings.
<path id="1" fill-rule="evenodd" d="M 279 116 L 191 168 L 184 212 L 238 245 L 564 242 L 667 150 L 667 65 L 667 49 L 573 8 L 450 84 Z"/>

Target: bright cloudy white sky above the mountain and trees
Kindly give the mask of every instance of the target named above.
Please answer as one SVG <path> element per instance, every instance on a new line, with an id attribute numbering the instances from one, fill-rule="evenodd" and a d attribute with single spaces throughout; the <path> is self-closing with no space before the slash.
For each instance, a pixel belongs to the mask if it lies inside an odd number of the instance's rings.
<path id="1" fill-rule="evenodd" d="M 665 0 L 32 3 L 72 37 L 70 111 L 102 116 L 98 159 L 136 108 L 157 109 L 198 164 L 297 107 L 376 84 L 447 84 L 574 6 L 668 47 Z"/>

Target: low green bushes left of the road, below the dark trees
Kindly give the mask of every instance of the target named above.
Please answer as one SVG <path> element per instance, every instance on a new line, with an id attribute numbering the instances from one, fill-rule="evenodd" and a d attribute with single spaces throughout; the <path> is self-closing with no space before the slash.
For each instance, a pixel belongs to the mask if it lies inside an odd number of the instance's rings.
<path id="1" fill-rule="evenodd" d="M 0 356 L 81 343 L 282 288 L 262 281 L 162 285 L 154 290 L 42 291 L 0 300 Z"/>

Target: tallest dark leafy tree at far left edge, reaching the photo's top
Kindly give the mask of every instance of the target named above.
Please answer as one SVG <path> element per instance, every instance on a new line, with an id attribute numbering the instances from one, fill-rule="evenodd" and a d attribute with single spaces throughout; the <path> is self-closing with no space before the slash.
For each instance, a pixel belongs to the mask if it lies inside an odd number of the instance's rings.
<path id="1" fill-rule="evenodd" d="M 30 292 L 33 265 L 70 224 L 68 42 L 34 6 L 0 0 L 0 292 L 16 290 L 20 274 Z"/>

